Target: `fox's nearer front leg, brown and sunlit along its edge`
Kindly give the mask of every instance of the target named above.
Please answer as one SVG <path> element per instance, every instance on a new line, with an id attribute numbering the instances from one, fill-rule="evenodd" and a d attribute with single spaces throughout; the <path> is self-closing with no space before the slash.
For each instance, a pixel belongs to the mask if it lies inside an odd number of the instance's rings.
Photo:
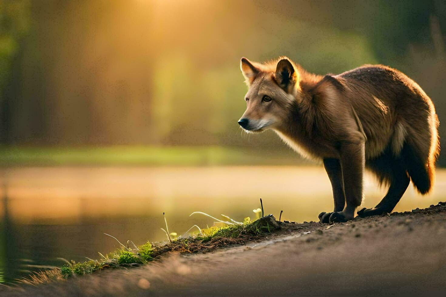
<path id="1" fill-rule="evenodd" d="M 347 222 L 353 219 L 356 207 L 361 204 L 365 167 L 364 142 L 342 143 L 340 147 L 340 161 L 347 205 L 341 212 L 333 212 L 330 215 L 330 223 Z"/>

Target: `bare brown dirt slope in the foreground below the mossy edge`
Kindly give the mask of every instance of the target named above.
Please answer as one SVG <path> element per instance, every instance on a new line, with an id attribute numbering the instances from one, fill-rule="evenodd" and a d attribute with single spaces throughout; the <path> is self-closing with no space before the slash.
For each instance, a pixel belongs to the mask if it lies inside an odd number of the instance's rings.
<path id="1" fill-rule="evenodd" d="M 343 224 L 289 223 L 243 245 L 0 295 L 444 296 L 445 204 Z"/>

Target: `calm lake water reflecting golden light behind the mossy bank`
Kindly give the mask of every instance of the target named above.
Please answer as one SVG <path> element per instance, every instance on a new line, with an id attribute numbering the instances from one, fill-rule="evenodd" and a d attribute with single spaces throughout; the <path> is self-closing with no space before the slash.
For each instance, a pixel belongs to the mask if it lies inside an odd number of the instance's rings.
<path id="1" fill-rule="evenodd" d="M 213 220 L 192 212 L 242 221 L 253 209 L 282 220 L 317 221 L 331 211 L 331 185 L 321 167 L 17 167 L 0 169 L 0 282 L 64 260 L 97 259 L 121 242 L 165 240 L 194 224 Z M 365 207 L 385 194 L 366 176 Z M 395 211 L 446 200 L 446 171 L 437 171 L 434 191 L 421 196 L 410 185 Z"/>

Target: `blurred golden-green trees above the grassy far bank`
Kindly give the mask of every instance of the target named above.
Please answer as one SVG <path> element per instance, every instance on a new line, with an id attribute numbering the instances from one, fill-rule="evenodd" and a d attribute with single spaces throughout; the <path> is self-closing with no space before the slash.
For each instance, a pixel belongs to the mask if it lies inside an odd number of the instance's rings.
<path id="1" fill-rule="evenodd" d="M 319 74 L 387 64 L 417 81 L 446 120 L 444 1 L 0 5 L 5 144 L 277 149 L 273 133 L 240 137 L 242 56 L 287 55 Z"/>

